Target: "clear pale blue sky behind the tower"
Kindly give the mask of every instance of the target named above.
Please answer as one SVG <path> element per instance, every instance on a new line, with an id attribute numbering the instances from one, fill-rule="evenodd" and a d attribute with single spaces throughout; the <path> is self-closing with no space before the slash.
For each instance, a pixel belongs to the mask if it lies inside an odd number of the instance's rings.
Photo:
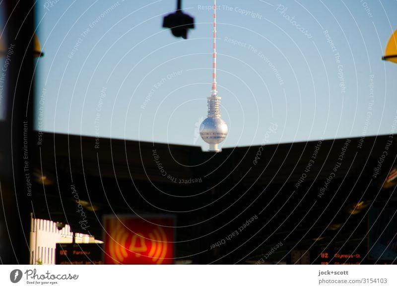
<path id="1" fill-rule="evenodd" d="M 217 4 L 218 94 L 229 126 L 221 146 L 391 132 L 397 65 L 381 57 L 397 29 L 396 0 Z M 196 22 L 184 40 L 161 27 L 176 0 L 40 0 L 41 129 L 206 149 L 198 124 L 211 89 L 208 5 L 183 0 Z"/>

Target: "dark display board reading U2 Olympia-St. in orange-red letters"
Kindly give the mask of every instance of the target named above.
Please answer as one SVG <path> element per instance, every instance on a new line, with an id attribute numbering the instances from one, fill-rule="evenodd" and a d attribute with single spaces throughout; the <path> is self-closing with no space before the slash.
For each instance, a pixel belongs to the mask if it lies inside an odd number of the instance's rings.
<path id="1" fill-rule="evenodd" d="M 311 250 L 312 251 L 312 250 Z M 313 264 L 318 265 L 359 265 L 365 251 L 356 248 L 316 248 L 311 255 L 316 258 Z"/>

